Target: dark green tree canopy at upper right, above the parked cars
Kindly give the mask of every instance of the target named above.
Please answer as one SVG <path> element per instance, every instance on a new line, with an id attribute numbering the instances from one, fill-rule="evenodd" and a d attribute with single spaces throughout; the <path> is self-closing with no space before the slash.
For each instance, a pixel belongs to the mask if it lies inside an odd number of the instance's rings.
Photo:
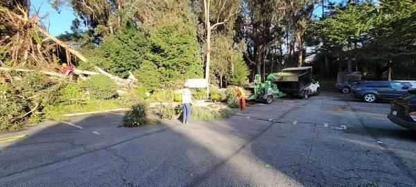
<path id="1" fill-rule="evenodd" d="M 414 60 L 416 6 L 413 0 L 364 1 L 333 10 L 316 25 L 325 51 L 347 61 L 379 80 L 392 66 Z M 338 62 L 339 63 L 339 62 Z M 398 71 L 397 73 L 401 73 Z"/>

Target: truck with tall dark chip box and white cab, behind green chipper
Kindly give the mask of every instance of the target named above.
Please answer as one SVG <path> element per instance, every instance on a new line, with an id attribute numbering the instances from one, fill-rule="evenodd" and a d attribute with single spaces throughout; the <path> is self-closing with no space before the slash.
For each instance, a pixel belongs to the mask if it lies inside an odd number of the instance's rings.
<path id="1" fill-rule="evenodd" d="M 286 96 L 300 96 L 308 99 L 311 94 L 320 94 L 319 82 L 312 80 L 312 67 L 293 67 L 270 73 L 268 80 L 277 85 Z"/>

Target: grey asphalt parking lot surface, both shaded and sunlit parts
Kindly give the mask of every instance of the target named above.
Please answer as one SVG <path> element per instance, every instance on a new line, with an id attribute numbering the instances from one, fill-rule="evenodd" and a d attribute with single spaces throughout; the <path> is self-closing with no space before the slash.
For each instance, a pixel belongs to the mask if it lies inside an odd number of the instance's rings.
<path id="1" fill-rule="evenodd" d="M 1 137 L 0 186 L 416 186 L 416 133 L 390 103 L 327 91 L 222 121 L 119 128 L 78 116 Z"/>

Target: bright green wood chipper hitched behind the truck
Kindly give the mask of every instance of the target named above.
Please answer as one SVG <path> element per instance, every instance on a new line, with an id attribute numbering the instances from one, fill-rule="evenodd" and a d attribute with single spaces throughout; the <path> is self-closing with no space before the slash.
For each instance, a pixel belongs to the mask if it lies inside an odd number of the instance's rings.
<path id="1" fill-rule="evenodd" d="M 270 104 L 273 98 L 281 98 L 284 94 L 277 89 L 277 85 L 273 84 L 271 80 L 261 82 L 260 75 L 254 76 L 254 82 L 246 85 L 244 89 L 250 91 L 247 94 L 247 100 L 263 101 L 263 103 Z"/>

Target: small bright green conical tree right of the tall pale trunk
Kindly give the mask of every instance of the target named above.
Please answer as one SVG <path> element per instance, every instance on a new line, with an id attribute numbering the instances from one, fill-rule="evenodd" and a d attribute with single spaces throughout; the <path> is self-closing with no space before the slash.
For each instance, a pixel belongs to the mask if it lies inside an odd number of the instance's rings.
<path id="1" fill-rule="evenodd" d="M 234 70 L 227 76 L 227 82 L 232 85 L 242 86 L 247 82 L 248 75 L 250 75 L 250 69 L 248 69 L 243 58 L 239 57 L 239 60 L 234 64 Z"/>

